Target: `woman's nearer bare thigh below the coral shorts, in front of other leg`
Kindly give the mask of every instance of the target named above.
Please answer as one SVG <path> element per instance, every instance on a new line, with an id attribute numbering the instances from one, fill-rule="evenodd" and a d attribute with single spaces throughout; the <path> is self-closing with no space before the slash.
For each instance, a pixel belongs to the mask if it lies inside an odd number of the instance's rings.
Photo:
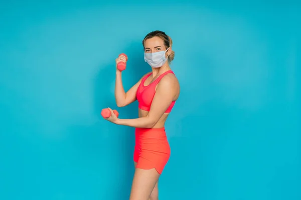
<path id="1" fill-rule="evenodd" d="M 160 174 L 155 168 L 136 168 L 130 192 L 130 200 L 148 200 L 152 193 Z"/>

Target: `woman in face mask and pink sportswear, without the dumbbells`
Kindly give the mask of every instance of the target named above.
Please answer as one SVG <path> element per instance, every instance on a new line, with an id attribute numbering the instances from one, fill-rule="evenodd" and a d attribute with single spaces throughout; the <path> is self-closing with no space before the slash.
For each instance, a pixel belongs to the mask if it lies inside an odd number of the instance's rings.
<path id="1" fill-rule="evenodd" d="M 158 180 L 170 157 L 165 133 L 165 121 L 180 94 L 180 85 L 170 67 L 175 52 L 172 39 L 163 31 L 148 33 L 143 41 L 144 60 L 152 66 L 127 92 L 124 91 L 121 71 L 116 69 L 115 99 L 118 107 L 138 100 L 138 116 L 120 119 L 111 110 L 107 120 L 135 127 L 134 166 L 130 200 L 158 199 Z M 121 55 L 116 65 L 126 61 Z M 116 67 L 117 68 L 117 67 Z"/>

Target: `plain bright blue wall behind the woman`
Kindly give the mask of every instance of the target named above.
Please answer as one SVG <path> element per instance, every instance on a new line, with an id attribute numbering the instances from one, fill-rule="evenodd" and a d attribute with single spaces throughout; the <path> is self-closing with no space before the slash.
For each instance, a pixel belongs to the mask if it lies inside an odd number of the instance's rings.
<path id="1" fill-rule="evenodd" d="M 109 1 L 108 1 L 109 2 Z M 8 1 L 0 12 L 0 199 L 128 199 L 134 128 L 102 119 L 166 31 L 181 96 L 160 199 L 301 199 L 296 1 Z M 137 117 L 137 102 L 117 108 Z"/>

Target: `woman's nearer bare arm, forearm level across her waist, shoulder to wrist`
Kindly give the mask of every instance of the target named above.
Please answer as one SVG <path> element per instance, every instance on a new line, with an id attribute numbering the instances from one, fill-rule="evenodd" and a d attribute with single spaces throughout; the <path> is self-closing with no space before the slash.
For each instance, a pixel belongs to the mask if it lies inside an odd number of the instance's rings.
<path id="1" fill-rule="evenodd" d="M 177 79 L 175 76 L 166 75 L 158 83 L 152 105 L 147 116 L 134 119 L 116 118 L 113 123 L 132 127 L 152 128 L 165 113 L 177 92 Z"/>

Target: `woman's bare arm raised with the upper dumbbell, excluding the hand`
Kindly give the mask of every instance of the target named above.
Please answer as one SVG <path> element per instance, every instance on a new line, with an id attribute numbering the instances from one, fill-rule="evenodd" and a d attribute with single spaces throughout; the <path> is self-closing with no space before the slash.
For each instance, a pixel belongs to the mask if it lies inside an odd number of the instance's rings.
<path id="1" fill-rule="evenodd" d="M 141 79 L 134 84 L 127 92 L 124 91 L 121 71 L 116 70 L 116 81 L 115 81 L 115 100 L 118 107 L 126 106 L 136 100 L 136 92 Z"/>

